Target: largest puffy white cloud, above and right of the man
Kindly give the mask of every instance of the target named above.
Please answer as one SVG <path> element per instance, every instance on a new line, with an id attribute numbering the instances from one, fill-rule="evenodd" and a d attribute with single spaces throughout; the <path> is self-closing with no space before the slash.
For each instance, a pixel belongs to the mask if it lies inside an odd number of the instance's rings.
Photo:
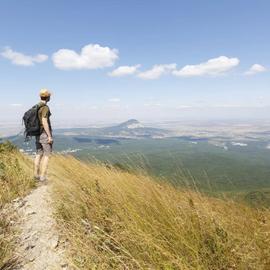
<path id="1" fill-rule="evenodd" d="M 73 50 L 60 49 L 52 56 L 55 67 L 59 69 L 98 69 L 110 67 L 118 59 L 118 50 L 88 44 L 80 53 Z"/>

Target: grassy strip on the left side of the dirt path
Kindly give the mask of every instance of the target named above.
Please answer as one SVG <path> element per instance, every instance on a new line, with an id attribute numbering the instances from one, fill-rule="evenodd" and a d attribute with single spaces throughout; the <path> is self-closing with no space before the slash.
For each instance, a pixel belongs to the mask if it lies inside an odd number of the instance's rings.
<path id="1" fill-rule="evenodd" d="M 13 231 L 9 226 L 10 213 L 4 206 L 24 196 L 34 187 L 31 163 L 10 143 L 0 144 L 0 269 L 12 264 Z"/>

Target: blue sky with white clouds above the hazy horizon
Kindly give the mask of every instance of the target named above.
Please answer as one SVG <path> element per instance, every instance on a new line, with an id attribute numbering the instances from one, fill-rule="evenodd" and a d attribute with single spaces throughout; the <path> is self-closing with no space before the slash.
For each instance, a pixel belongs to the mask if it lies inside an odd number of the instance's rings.
<path id="1" fill-rule="evenodd" d="M 269 1 L 0 6 L 0 121 L 53 92 L 56 123 L 265 118 Z"/>

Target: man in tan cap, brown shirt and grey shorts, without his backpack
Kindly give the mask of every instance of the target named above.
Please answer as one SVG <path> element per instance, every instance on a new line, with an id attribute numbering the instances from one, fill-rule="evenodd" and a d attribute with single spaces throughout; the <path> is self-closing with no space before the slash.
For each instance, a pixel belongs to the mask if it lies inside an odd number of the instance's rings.
<path id="1" fill-rule="evenodd" d="M 47 89 L 41 89 L 38 118 L 40 122 L 40 135 L 36 136 L 36 158 L 35 158 L 35 179 L 47 180 L 47 169 L 49 158 L 52 153 L 52 127 L 50 122 L 51 112 L 47 105 L 51 93 Z"/>

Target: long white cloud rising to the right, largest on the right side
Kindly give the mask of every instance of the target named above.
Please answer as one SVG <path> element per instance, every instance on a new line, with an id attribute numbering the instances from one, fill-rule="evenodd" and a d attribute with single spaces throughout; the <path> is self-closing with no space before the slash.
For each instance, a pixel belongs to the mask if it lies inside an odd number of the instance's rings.
<path id="1" fill-rule="evenodd" d="M 174 70 L 172 73 L 179 77 L 193 77 L 205 75 L 220 75 L 236 67 L 240 63 L 238 58 L 228 58 L 220 56 L 209 59 L 207 62 L 198 65 L 186 65 L 180 70 Z"/>

